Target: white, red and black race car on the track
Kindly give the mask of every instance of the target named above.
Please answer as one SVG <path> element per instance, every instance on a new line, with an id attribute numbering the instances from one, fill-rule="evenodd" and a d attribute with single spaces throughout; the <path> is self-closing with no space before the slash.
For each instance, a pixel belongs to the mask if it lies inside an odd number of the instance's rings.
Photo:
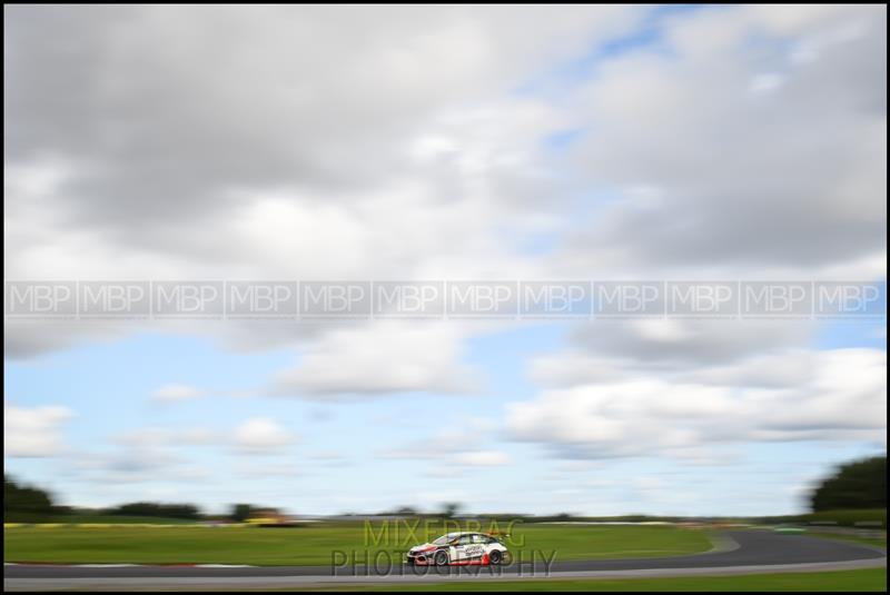
<path id="1" fill-rule="evenodd" d="M 510 556 L 507 546 L 486 533 L 448 533 L 428 544 L 412 547 L 407 564 L 417 566 L 497 565 Z"/>

